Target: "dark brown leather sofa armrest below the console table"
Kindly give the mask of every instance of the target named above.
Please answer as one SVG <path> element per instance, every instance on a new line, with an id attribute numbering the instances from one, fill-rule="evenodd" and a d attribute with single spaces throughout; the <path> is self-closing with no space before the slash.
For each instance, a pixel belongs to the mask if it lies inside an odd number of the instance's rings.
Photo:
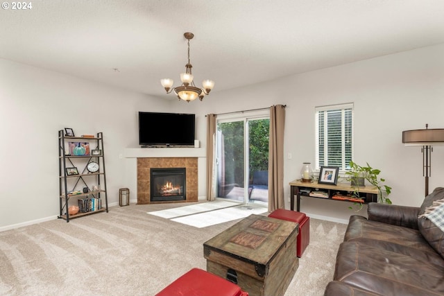
<path id="1" fill-rule="evenodd" d="M 367 208 L 368 220 L 391 225 L 418 229 L 419 207 L 370 202 Z"/>

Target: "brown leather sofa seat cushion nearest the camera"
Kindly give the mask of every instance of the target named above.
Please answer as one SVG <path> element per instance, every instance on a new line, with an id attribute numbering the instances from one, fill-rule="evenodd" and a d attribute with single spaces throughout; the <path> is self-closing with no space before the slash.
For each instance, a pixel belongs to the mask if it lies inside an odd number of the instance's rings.
<path id="1" fill-rule="evenodd" d="M 360 241 L 341 243 L 334 280 L 376 295 L 443 295 L 444 267 Z"/>

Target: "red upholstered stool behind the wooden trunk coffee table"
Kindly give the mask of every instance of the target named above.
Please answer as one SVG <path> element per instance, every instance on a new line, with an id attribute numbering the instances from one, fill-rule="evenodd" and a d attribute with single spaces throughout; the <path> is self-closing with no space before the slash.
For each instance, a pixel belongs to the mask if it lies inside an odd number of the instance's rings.
<path id="1" fill-rule="evenodd" d="M 276 209 L 268 217 L 299 223 L 296 254 L 300 258 L 310 242 L 310 218 L 300 211 Z"/>

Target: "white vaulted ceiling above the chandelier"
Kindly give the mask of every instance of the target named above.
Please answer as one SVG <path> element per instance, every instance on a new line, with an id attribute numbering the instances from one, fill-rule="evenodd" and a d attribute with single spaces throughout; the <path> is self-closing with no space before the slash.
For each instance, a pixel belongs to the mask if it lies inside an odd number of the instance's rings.
<path id="1" fill-rule="evenodd" d="M 9 2 L 12 3 L 12 2 Z M 0 58 L 162 98 L 187 63 L 213 92 L 444 43 L 443 0 L 33 0 Z"/>

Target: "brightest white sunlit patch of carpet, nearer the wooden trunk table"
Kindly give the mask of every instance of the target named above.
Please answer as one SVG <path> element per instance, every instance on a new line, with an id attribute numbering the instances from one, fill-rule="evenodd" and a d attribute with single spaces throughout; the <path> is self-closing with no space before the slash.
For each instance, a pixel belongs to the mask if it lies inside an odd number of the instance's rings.
<path id="1" fill-rule="evenodd" d="M 207 202 L 211 203 L 211 202 Z M 230 202 L 233 204 L 233 202 Z M 237 205 L 237 207 L 227 207 L 215 211 L 205 211 L 203 213 L 173 218 L 171 221 L 183 223 L 197 228 L 208 227 L 219 223 L 225 223 L 232 220 L 248 217 L 252 214 L 264 214 L 268 209 L 266 207 L 254 205 Z"/>

